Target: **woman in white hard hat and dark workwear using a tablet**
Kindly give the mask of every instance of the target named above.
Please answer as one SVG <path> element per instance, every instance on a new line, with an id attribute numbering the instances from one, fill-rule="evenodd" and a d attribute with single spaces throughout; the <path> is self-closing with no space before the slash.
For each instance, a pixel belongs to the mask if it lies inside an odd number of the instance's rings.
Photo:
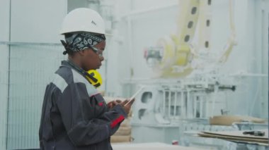
<path id="1" fill-rule="evenodd" d="M 41 149 L 112 149 L 110 136 L 127 118 L 132 102 L 105 104 L 86 77 L 86 70 L 101 67 L 105 50 L 105 26 L 101 16 L 77 8 L 64 18 L 61 40 L 68 60 L 46 87 L 40 123 Z M 125 105 L 126 104 L 126 105 Z"/>

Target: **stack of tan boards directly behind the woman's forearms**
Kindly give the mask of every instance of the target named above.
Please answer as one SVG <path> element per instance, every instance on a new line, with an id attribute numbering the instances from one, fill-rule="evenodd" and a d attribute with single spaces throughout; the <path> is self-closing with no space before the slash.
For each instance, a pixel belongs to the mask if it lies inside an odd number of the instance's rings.
<path id="1" fill-rule="evenodd" d="M 108 103 L 109 101 L 114 101 L 116 99 L 119 99 L 121 101 L 124 101 L 124 98 L 119 98 L 119 97 L 108 97 L 108 96 L 103 96 L 105 101 Z M 130 124 L 132 116 L 132 111 L 128 114 L 128 118 L 126 118 L 121 124 L 120 128 L 118 129 L 117 132 L 110 138 L 110 142 L 112 143 L 118 143 L 118 142 L 132 142 L 132 127 Z"/>

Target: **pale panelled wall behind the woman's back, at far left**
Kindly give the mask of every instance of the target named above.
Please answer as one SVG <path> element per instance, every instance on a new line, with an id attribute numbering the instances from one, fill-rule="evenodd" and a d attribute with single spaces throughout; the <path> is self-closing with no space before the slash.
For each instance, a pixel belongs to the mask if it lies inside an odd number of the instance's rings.
<path id="1" fill-rule="evenodd" d="M 0 41 L 9 42 L 0 45 L 0 149 L 38 148 L 45 86 L 64 59 L 59 27 L 67 1 L 1 1 L 0 10 Z"/>

